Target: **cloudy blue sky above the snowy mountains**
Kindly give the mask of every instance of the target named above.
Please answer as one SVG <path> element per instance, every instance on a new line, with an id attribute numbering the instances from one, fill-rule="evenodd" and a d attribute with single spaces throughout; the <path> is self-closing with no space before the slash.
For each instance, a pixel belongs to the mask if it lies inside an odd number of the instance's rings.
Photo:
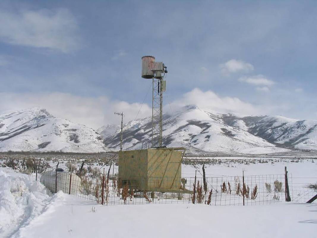
<path id="1" fill-rule="evenodd" d="M 44 107 L 97 129 L 151 114 L 141 57 L 168 69 L 166 113 L 317 120 L 316 1 L 0 2 L 0 114 Z"/>

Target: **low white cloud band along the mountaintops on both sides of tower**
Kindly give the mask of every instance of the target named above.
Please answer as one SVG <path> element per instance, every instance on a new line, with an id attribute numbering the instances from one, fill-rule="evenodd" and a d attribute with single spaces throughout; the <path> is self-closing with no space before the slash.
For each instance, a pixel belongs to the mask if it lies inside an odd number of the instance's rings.
<path id="1" fill-rule="evenodd" d="M 120 124 L 120 118 L 114 111 L 123 111 L 124 123 L 136 119 L 141 103 L 129 103 L 111 100 L 106 96 L 82 97 L 67 93 L 0 93 L 0 114 L 31 107 L 43 107 L 52 115 L 68 119 L 98 129 L 108 123 Z M 181 107 L 195 104 L 202 109 L 211 109 L 220 113 L 233 112 L 240 115 L 263 115 L 281 112 L 285 105 L 254 105 L 237 97 L 218 96 L 212 91 L 193 89 L 179 99 L 165 105 L 164 113 L 178 111 Z M 152 108 L 143 104 L 138 118 L 152 115 Z"/>

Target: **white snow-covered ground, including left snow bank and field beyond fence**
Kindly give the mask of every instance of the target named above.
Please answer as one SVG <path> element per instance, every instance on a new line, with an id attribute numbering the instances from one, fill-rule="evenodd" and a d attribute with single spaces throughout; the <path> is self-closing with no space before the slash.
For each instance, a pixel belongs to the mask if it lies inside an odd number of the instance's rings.
<path id="1" fill-rule="evenodd" d="M 312 159 L 222 158 L 206 165 L 206 176 L 241 176 L 242 170 L 246 175 L 283 174 L 284 166 L 293 186 L 317 181 Z M 183 165 L 183 176 L 191 177 L 195 170 L 201 176 L 201 167 Z M 0 168 L 0 185 L 0 237 L 314 237 L 317 226 L 316 202 L 102 206 L 62 192 L 52 195 L 33 176 L 8 168 Z"/>

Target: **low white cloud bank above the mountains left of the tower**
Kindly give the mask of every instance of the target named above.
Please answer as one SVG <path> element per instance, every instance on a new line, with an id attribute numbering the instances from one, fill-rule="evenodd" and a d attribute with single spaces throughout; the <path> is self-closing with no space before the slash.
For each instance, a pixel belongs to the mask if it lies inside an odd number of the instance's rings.
<path id="1" fill-rule="evenodd" d="M 56 117 L 94 129 L 108 123 L 119 124 L 120 118 L 114 116 L 114 111 L 123 111 L 125 122 L 134 120 L 141 107 L 141 103 L 114 101 L 104 96 L 81 97 L 66 93 L 0 93 L 0 102 L 0 114 L 5 111 L 43 107 Z M 151 113 L 152 109 L 144 104 L 138 118 L 150 116 Z"/>

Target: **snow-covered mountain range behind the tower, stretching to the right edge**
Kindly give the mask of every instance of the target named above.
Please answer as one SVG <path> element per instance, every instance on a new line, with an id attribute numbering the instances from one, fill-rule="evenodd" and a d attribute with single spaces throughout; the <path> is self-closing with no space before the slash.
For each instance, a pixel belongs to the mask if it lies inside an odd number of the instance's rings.
<path id="1" fill-rule="evenodd" d="M 190 152 L 268 154 L 290 149 L 316 150 L 317 121 L 298 121 L 281 116 L 220 114 L 189 105 L 173 115 L 165 115 L 163 144 L 184 146 Z M 127 123 L 124 149 L 139 149 L 151 141 L 151 118 Z M 104 137 L 108 148 L 118 150 L 119 131 Z M 145 143 L 143 144 L 145 147 Z"/>

